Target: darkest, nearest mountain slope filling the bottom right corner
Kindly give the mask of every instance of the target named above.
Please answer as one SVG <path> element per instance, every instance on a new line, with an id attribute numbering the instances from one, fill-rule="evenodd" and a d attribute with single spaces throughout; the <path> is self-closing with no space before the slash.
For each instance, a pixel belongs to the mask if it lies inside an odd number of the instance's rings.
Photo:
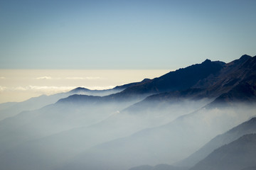
<path id="1" fill-rule="evenodd" d="M 256 135 L 244 135 L 238 140 L 215 149 L 191 170 L 240 170 L 256 166 Z"/>

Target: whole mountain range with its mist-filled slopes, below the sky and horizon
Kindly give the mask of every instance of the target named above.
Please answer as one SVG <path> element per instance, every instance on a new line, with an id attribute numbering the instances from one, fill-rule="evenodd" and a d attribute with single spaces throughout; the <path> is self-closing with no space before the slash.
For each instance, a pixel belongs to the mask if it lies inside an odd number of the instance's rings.
<path id="1" fill-rule="evenodd" d="M 243 55 L 105 91 L 0 104 L 0 167 L 225 169 L 240 151 L 248 162 L 238 170 L 250 169 L 255 101 L 256 57 Z M 220 155 L 225 162 L 214 166 Z"/>

